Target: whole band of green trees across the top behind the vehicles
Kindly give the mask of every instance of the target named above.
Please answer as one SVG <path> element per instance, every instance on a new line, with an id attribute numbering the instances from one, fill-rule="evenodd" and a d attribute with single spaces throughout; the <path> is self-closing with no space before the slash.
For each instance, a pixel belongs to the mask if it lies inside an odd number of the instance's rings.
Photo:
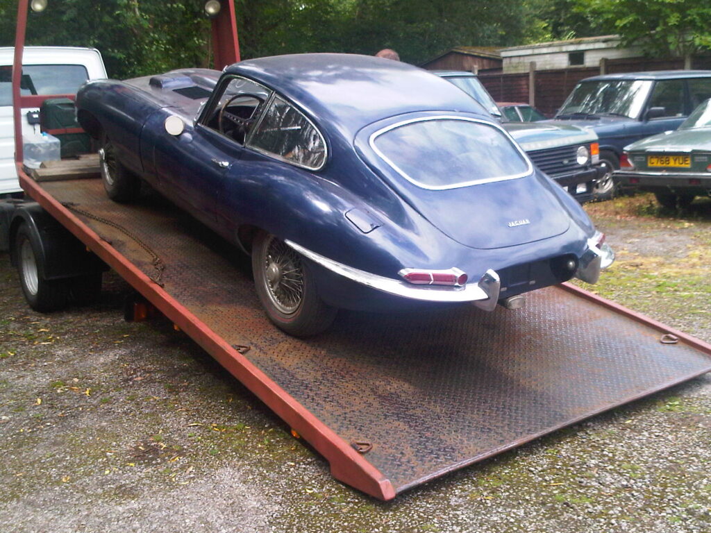
<path id="1" fill-rule="evenodd" d="M 28 45 L 98 48 L 109 75 L 210 66 L 203 0 L 50 0 Z M 235 0 L 242 58 L 394 48 L 422 63 L 457 45 L 506 46 L 620 33 L 623 45 L 686 56 L 711 48 L 711 4 L 697 0 Z M 16 0 L 0 0 L 12 45 Z"/>

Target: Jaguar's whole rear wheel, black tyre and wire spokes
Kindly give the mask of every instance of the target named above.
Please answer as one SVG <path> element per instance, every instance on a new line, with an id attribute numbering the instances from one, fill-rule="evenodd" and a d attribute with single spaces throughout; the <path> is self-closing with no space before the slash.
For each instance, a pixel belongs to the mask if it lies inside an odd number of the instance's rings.
<path id="1" fill-rule="evenodd" d="M 295 337 L 328 329 L 338 310 L 318 292 L 311 266 L 282 240 L 260 232 L 252 244 L 252 273 L 257 296 L 269 320 Z"/>

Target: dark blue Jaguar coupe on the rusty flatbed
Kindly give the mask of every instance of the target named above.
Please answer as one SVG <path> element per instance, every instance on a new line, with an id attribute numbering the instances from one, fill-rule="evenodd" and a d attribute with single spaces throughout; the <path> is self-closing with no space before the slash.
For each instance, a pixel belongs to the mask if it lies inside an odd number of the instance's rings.
<path id="1" fill-rule="evenodd" d="M 252 254 L 269 318 L 337 308 L 516 308 L 613 260 L 585 212 L 449 82 L 363 55 L 247 60 L 84 85 L 110 198 L 148 182 Z"/>

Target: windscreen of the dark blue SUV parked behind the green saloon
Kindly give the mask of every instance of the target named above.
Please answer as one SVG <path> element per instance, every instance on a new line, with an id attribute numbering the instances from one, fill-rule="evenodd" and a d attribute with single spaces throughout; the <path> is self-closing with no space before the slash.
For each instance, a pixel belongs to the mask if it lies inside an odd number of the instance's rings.
<path id="1" fill-rule="evenodd" d="M 650 80 L 597 80 L 580 82 L 555 118 L 613 115 L 635 119 L 652 87 Z"/>

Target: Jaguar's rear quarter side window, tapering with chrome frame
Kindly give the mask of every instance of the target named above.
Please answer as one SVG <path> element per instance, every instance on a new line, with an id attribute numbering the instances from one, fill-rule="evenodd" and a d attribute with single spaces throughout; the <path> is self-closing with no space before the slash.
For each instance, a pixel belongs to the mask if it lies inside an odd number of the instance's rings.
<path id="1" fill-rule="evenodd" d="M 274 96 L 247 146 L 296 166 L 318 170 L 326 162 L 326 141 L 304 114 Z"/>

